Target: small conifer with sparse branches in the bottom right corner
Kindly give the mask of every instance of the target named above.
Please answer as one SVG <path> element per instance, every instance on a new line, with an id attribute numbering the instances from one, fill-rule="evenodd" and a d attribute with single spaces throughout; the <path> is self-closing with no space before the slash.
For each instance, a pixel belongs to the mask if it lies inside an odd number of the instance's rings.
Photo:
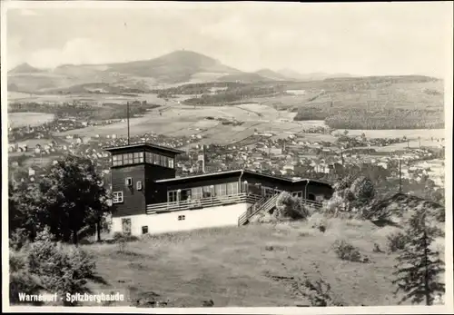
<path id="1" fill-rule="evenodd" d="M 432 251 L 430 244 L 439 235 L 439 229 L 428 226 L 425 210 L 418 210 L 409 221 L 406 231 L 407 242 L 397 258 L 398 263 L 393 281 L 398 286 L 395 293 L 405 293 L 402 301 L 409 300 L 432 305 L 435 296 L 444 293 L 445 285 L 440 282 L 439 274 L 444 272 L 444 262 L 439 259 L 439 252 Z"/>

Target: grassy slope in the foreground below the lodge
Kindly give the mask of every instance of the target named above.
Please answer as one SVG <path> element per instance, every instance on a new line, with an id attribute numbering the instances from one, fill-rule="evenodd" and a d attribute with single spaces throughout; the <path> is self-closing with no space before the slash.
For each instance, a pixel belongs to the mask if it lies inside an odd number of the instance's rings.
<path id="1" fill-rule="evenodd" d="M 311 219 L 316 220 L 316 219 Z M 306 272 L 322 278 L 344 305 L 395 305 L 391 284 L 395 255 L 375 253 L 373 243 L 385 249 L 386 236 L 395 228 L 370 222 L 331 219 L 328 230 L 311 228 L 312 221 L 290 225 L 222 228 L 157 236 L 131 242 L 127 253 L 118 245 L 86 245 L 96 255 L 105 288 L 131 290 L 133 299 L 154 291 L 173 307 L 200 307 L 202 300 L 216 307 L 295 306 L 307 304 L 289 283 L 265 276 L 294 276 Z M 360 248 L 373 263 L 341 261 L 331 250 L 337 239 Z M 266 246 L 273 246 L 267 251 Z"/>

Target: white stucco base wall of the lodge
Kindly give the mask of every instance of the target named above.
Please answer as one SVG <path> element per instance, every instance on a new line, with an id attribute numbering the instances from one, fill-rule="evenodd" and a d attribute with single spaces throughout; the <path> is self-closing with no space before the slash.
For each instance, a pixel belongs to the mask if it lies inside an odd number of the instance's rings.
<path id="1" fill-rule="evenodd" d="M 169 231 L 187 231 L 217 226 L 237 225 L 238 218 L 247 210 L 248 203 L 167 212 L 160 214 L 138 214 L 112 218 L 111 232 L 122 231 L 122 219 L 131 219 L 131 234 L 142 235 L 142 227 L 148 226 L 148 232 L 162 233 Z M 185 220 L 178 221 L 178 216 L 184 215 Z"/>

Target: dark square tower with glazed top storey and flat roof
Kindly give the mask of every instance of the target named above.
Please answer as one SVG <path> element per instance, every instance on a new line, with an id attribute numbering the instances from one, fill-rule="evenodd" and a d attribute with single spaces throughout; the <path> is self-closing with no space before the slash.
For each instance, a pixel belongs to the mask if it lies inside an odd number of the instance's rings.
<path id="1" fill-rule="evenodd" d="M 175 177 L 175 156 L 183 151 L 149 143 L 105 148 L 111 153 L 113 217 L 145 214 L 149 203 L 167 202 L 155 181 Z"/>

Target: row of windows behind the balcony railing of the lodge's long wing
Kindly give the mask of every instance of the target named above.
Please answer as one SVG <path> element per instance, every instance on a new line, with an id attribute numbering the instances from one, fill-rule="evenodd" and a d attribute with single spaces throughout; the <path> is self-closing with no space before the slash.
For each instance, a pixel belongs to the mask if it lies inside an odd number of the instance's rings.
<path id="1" fill-rule="evenodd" d="M 180 191 L 180 201 L 188 199 L 197 200 L 215 196 L 228 196 L 240 192 L 238 182 L 220 183 L 212 186 L 194 187 L 191 189 L 182 189 Z M 178 202 L 178 191 L 167 192 L 168 202 Z"/>

